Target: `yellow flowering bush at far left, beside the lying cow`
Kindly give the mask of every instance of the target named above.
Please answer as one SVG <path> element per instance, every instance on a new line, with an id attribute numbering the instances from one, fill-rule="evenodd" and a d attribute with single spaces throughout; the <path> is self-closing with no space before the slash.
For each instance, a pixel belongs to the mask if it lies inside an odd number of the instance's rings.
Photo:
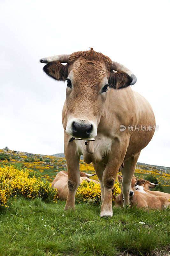
<path id="1" fill-rule="evenodd" d="M 19 170 L 13 165 L 0 167 L 0 206 L 7 207 L 9 197 L 21 195 L 28 199 L 36 196 L 56 203 L 57 189 L 51 188 L 48 181 L 42 181 L 27 169 Z"/>

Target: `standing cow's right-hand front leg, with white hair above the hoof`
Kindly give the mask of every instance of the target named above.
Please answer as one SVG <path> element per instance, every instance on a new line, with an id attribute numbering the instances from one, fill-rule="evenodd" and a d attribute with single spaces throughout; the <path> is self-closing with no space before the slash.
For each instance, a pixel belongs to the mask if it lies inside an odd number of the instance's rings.
<path id="1" fill-rule="evenodd" d="M 112 189 L 115 184 L 117 172 L 126 154 L 128 139 L 125 139 L 126 138 L 124 138 L 122 143 L 120 140 L 115 140 L 109 154 L 108 163 L 103 172 L 104 198 L 100 210 L 101 217 L 113 216 Z"/>

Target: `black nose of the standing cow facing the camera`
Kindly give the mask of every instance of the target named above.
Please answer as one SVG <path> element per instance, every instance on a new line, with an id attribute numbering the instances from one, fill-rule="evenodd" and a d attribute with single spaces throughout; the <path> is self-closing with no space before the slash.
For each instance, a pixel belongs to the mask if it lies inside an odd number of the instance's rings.
<path id="1" fill-rule="evenodd" d="M 93 129 L 92 124 L 77 124 L 75 122 L 72 123 L 73 136 L 81 139 L 87 139 Z"/>

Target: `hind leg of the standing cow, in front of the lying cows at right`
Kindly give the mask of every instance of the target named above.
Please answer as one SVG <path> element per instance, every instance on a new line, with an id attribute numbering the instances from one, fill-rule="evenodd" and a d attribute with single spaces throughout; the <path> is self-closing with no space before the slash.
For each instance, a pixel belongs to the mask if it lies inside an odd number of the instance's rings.
<path id="1" fill-rule="evenodd" d="M 130 157 L 124 162 L 124 168 L 122 170 L 122 192 L 123 192 L 123 206 L 129 205 L 129 192 L 131 187 L 132 177 L 135 172 L 137 160 L 140 152 L 135 156 Z"/>

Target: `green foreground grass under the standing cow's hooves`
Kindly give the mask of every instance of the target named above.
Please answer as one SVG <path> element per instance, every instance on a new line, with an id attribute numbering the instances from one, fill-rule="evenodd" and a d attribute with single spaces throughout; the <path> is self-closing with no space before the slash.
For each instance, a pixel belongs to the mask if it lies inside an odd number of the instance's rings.
<path id="1" fill-rule="evenodd" d="M 126 249 L 133 255 L 150 255 L 170 244 L 170 232 L 165 232 L 169 210 L 113 207 L 113 218 L 106 220 L 96 206 L 77 204 L 76 212 L 63 212 L 61 201 L 10 200 L 11 206 L 0 210 L 1 256 L 114 256 Z"/>

